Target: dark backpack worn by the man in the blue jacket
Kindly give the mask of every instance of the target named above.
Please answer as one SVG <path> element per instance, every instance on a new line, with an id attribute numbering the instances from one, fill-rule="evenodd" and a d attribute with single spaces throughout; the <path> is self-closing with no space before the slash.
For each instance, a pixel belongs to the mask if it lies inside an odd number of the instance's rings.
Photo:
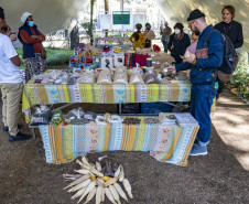
<path id="1" fill-rule="evenodd" d="M 216 29 L 209 31 L 204 42 L 204 47 L 207 47 L 209 35 L 213 32 L 219 32 Z M 232 76 L 237 64 L 238 64 L 238 54 L 231 43 L 229 36 L 221 34 L 224 37 L 224 58 L 220 67 L 217 67 L 218 79 L 223 83 L 227 83 Z"/>

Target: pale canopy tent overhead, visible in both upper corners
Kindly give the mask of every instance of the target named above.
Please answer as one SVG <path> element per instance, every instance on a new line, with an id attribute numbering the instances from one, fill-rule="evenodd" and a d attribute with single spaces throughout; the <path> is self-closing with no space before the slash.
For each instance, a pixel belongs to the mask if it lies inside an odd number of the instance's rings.
<path id="1" fill-rule="evenodd" d="M 20 17 L 23 12 L 33 13 L 35 23 L 43 33 L 68 28 L 78 13 L 87 6 L 89 0 L 0 0 L 0 6 L 6 11 L 8 23 L 13 31 L 21 25 Z M 171 26 L 175 22 L 186 25 L 190 12 L 201 9 L 207 17 L 208 23 L 221 21 L 221 8 L 224 4 L 232 4 L 236 8 L 235 20 L 243 26 L 246 51 L 249 51 L 249 0 L 155 0 L 163 15 Z"/>

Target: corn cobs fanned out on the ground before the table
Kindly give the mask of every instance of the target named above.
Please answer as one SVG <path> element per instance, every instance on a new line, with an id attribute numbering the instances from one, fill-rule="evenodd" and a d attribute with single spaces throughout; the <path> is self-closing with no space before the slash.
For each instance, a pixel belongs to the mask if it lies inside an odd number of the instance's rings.
<path id="1" fill-rule="evenodd" d="M 100 204 L 105 201 L 105 195 L 111 203 L 120 204 L 120 196 L 128 201 L 127 195 L 118 181 L 123 184 L 130 198 L 133 198 L 131 193 L 131 185 L 127 179 L 124 179 L 124 172 L 122 165 L 106 162 L 106 167 L 101 167 L 99 162 L 91 164 L 85 157 L 82 157 L 82 161 L 76 160 L 80 165 L 79 170 L 75 170 L 78 174 L 63 174 L 64 179 L 74 180 L 65 189 L 69 189 L 67 192 L 76 192 L 72 198 L 79 197 L 79 202 L 86 197 L 88 203 L 96 195 L 96 204 Z"/>

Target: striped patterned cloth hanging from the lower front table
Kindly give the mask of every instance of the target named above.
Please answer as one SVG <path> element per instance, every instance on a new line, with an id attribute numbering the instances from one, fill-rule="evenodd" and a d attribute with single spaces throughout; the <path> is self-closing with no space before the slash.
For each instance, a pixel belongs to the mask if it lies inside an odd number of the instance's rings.
<path id="1" fill-rule="evenodd" d="M 199 126 L 107 124 L 39 126 L 47 163 L 66 163 L 85 153 L 150 151 L 161 162 L 185 167 Z"/>

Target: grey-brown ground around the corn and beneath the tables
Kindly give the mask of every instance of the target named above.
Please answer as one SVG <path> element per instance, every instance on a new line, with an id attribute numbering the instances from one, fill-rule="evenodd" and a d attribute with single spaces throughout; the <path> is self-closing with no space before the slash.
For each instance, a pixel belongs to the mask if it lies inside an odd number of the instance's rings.
<path id="1" fill-rule="evenodd" d="M 116 111 L 115 106 L 112 109 Z M 161 163 L 142 152 L 104 152 L 87 157 L 96 161 L 100 155 L 108 155 L 110 161 L 123 165 L 132 185 L 131 204 L 249 203 L 249 106 L 226 93 L 212 118 L 208 154 L 190 157 L 186 168 Z M 24 125 L 23 118 L 20 124 Z M 22 131 L 30 132 L 26 125 Z M 62 178 L 74 169 L 78 169 L 75 162 L 47 164 L 39 133 L 35 140 L 10 143 L 1 124 L 1 204 L 76 203 L 71 200 L 72 194 L 63 190 L 66 182 Z M 122 200 L 122 203 L 126 202 Z"/>

